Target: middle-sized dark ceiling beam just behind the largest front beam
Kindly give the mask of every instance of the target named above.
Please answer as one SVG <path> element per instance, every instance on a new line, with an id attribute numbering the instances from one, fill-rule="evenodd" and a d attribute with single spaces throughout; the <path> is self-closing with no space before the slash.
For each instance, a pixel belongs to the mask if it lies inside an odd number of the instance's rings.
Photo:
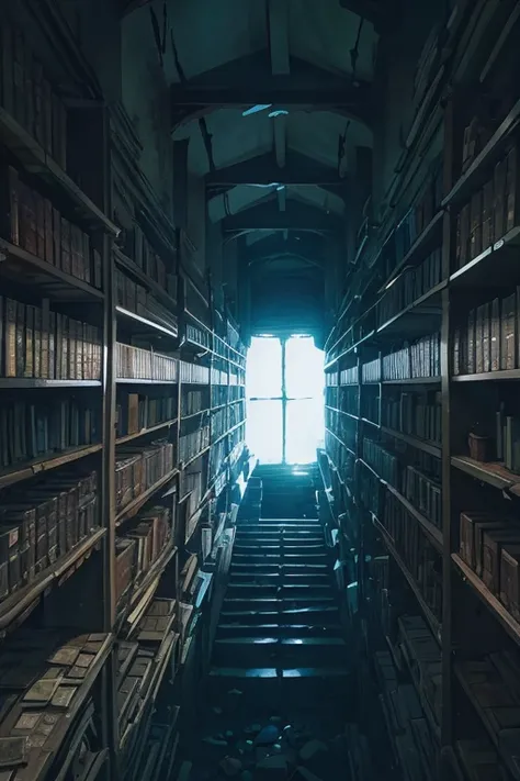
<path id="1" fill-rule="evenodd" d="M 205 181 L 208 190 L 238 185 L 318 185 L 338 190 L 346 187 L 346 180 L 334 168 L 291 149 L 285 152 L 283 168 L 275 165 L 271 154 L 259 155 L 226 168 L 217 168 L 206 175 Z"/>

